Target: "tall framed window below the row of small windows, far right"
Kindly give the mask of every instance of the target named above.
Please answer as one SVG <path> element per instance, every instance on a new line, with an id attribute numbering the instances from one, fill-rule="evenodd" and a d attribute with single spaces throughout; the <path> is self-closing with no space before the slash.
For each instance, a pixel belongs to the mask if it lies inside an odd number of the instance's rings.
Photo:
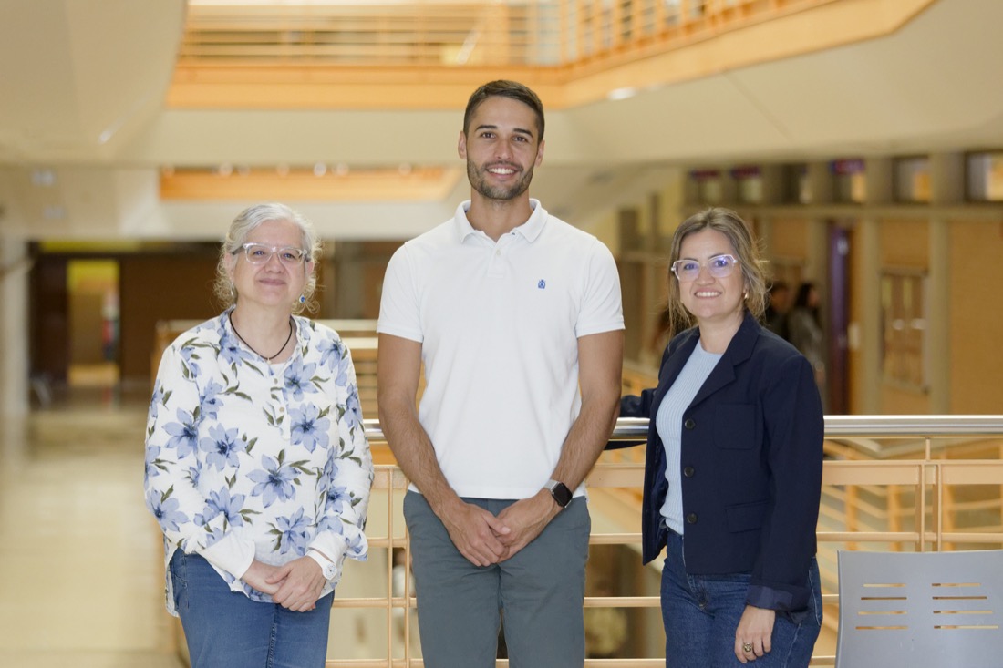
<path id="1" fill-rule="evenodd" d="M 882 274 L 882 375 L 885 382 L 927 389 L 927 276 L 918 271 Z"/>

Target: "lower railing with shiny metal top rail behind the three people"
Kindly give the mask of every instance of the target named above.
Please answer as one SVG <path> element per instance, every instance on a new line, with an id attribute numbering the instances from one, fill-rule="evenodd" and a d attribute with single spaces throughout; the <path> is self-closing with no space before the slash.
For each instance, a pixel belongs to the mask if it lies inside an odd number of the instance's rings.
<path id="1" fill-rule="evenodd" d="M 366 420 L 366 433 L 374 447 L 385 445 L 379 424 Z M 644 441 L 647 420 L 618 420 L 613 438 Z M 838 549 L 939 551 L 978 549 L 1003 545 L 1003 416 L 827 416 L 827 458 L 822 476 L 822 506 L 818 523 L 819 566 L 823 572 L 826 633 L 834 633 L 838 619 L 835 552 Z M 856 453 L 850 458 L 848 453 Z M 969 458 L 952 458 L 958 454 Z M 625 517 L 639 518 L 643 464 L 630 458 L 643 447 L 604 454 L 589 476 L 594 502 L 607 508 L 619 506 Z M 902 458 L 904 456 L 912 458 Z M 978 456 L 979 458 L 970 458 Z M 868 458 L 865 458 L 868 457 Z M 399 505 L 406 489 L 403 473 L 395 465 L 377 466 L 370 506 L 386 509 L 385 531 L 370 535 L 374 551 L 401 549 L 409 557 L 409 544 Z M 380 499 L 380 500 L 377 500 Z M 637 522 L 634 523 L 635 525 Z M 594 533 L 591 545 L 637 546 L 637 532 Z M 657 560 L 655 564 L 657 565 Z M 640 558 L 637 561 L 640 566 Z M 367 567 L 363 567 L 367 568 Z M 392 637 L 398 613 L 415 607 L 415 599 L 395 595 L 391 588 L 392 559 L 385 563 L 386 594 L 380 597 L 341 596 L 338 610 L 376 609 L 385 612 L 386 651 L 383 658 L 332 659 L 330 668 L 411 667 L 423 665 L 412 649 L 411 614 L 403 615 L 403 643 Z M 347 576 L 346 576 L 347 579 Z M 405 575 L 405 589 L 409 575 Z M 587 597 L 586 608 L 658 608 L 652 596 Z M 395 655 L 396 652 L 396 655 Z M 834 656 L 816 646 L 812 666 L 831 666 Z M 498 666 L 507 666 L 499 660 Z M 660 656 L 589 659 L 588 668 L 662 668 Z"/>

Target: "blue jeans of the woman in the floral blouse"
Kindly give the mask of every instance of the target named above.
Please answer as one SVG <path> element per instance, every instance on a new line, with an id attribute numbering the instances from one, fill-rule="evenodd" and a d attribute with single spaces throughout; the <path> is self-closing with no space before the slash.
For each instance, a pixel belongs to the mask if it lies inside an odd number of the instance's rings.
<path id="1" fill-rule="evenodd" d="M 205 559 L 171 559 L 175 604 L 192 668 L 323 668 L 334 593 L 310 612 L 232 592 Z"/>

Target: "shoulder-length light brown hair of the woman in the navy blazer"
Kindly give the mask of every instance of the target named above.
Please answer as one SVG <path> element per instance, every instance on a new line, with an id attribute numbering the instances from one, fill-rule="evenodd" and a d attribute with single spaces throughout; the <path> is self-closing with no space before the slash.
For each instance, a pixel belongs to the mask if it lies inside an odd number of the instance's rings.
<path id="1" fill-rule="evenodd" d="M 762 319 L 766 309 L 766 272 L 763 260 L 759 257 L 759 248 L 752 237 L 748 223 L 723 207 L 705 209 L 699 214 L 690 216 L 676 228 L 672 236 L 672 249 L 669 252 L 669 267 L 679 259 L 683 240 L 691 234 L 715 230 L 727 237 L 731 248 L 737 256 L 738 266 L 742 271 L 742 283 L 745 288 L 744 308 L 757 319 Z M 693 316 L 683 306 L 679 296 L 679 280 L 669 271 L 669 310 L 672 313 L 672 334 L 675 334 L 693 324 Z"/>

